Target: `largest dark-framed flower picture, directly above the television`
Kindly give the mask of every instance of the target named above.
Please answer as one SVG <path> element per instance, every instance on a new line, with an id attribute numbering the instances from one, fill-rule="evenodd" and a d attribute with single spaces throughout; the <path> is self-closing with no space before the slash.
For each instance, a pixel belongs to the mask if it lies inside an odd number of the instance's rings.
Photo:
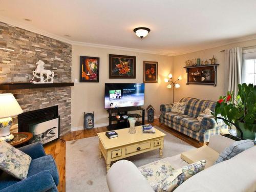
<path id="1" fill-rule="evenodd" d="M 136 57 L 110 54 L 110 79 L 136 78 Z"/>

